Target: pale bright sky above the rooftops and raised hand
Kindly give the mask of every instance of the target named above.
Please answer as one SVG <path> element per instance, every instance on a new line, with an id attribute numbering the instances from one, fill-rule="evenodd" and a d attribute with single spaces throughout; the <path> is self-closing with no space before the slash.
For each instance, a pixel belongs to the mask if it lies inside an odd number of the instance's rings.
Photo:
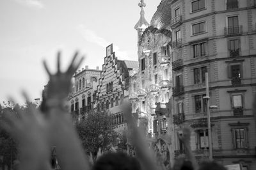
<path id="1" fill-rule="evenodd" d="M 145 0 L 148 23 L 161 0 Z M 21 89 L 41 98 L 47 83 L 46 59 L 56 68 L 62 52 L 63 68 L 75 50 L 86 55 L 82 66 L 102 68 L 106 46 L 114 44 L 118 59 L 138 60 L 137 32 L 140 0 L 1 0 L 0 104 L 11 96 L 23 103 Z M 55 71 L 54 69 L 51 69 Z"/>

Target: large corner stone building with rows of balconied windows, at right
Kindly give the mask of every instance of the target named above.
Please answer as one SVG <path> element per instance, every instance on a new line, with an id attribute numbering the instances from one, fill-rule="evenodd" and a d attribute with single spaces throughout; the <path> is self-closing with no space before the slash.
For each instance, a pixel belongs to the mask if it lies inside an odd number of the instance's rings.
<path id="1" fill-rule="evenodd" d="M 256 169 L 252 101 L 256 93 L 256 2 L 169 1 L 172 11 L 173 123 L 193 128 L 196 158 Z M 209 74 L 209 99 L 206 97 Z M 207 105 L 209 100 L 210 105 Z M 207 128 L 211 112 L 211 134 Z M 175 155 L 183 152 L 175 137 Z M 210 148 L 211 149 L 211 148 Z"/>

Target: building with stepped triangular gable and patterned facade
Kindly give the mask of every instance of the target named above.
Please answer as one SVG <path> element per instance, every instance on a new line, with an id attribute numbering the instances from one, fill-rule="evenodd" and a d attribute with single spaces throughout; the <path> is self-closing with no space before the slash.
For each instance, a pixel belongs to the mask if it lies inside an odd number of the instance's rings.
<path id="1" fill-rule="evenodd" d="M 129 99 L 129 77 L 136 70 L 138 61 L 119 60 L 113 52 L 113 44 L 106 47 L 106 57 L 97 86 L 97 111 L 109 111 L 119 134 L 124 134 L 127 130 L 120 105 Z"/>

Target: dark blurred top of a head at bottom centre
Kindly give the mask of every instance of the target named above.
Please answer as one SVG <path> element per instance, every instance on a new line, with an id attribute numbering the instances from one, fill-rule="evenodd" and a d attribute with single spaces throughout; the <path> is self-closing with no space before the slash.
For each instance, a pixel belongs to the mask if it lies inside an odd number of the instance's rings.
<path id="1" fill-rule="evenodd" d="M 125 153 L 107 153 L 93 165 L 93 170 L 140 170 L 140 162 Z"/>

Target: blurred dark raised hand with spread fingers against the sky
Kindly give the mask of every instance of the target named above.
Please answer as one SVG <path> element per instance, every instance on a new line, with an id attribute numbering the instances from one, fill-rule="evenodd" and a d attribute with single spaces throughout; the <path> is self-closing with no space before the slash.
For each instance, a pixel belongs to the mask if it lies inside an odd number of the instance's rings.
<path id="1" fill-rule="evenodd" d="M 61 53 L 58 52 L 57 55 L 57 72 L 55 74 L 52 74 L 49 71 L 49 68 L 46 64 L 46 62 L 44 61 L 44 67 L 46 72 L 49 75 L 49 85 L 48 85 L 48 89 L 47 89 L 47 95 L 46 98 L 47 99 L 60 99 L 63 100 L 65 98 L 67 98 L 68 93 L 70 92 L 70 88 L 71 88 L 71 78 L 72 75 L 74 75 L 74 73 L 76 72 L 77 68 L 79 67 L 79 65 L 82 63 L 84 58 L 80 58 L 79 61 L 77 62 L 77 56 L 78 56 L 78 52 L 76 52 L 74 54 L 74 57 L 70 63 L 70 65 L 68 66 L 68 69 L 66 72 L 61 72 L 60 70 L 60 58 L 61 58 Z"/>

